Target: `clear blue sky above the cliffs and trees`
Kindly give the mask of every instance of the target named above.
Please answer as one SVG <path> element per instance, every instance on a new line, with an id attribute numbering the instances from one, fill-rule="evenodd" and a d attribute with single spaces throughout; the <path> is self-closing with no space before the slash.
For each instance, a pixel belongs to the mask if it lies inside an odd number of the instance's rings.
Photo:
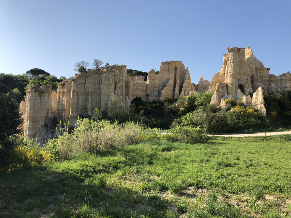
<path id="1" fill-rule="evenodd" d="M 227 47 L 250 46 L 275 75 L 291 71 L 291 1 L 0 1 L 0 72 L 74 75 L 94 58 L 159 70 L 181 60 L 211 81 Z"/>

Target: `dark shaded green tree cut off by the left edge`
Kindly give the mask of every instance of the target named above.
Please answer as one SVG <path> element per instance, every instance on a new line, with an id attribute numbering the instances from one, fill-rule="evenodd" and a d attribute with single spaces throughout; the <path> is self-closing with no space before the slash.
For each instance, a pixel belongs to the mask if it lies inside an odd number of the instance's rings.
<path id="1" fill-rule="evenodd" d="M 10 138 L 22 132 L 23 119 L 19 104 L 11 96 L 0 95 L 0 166 L 5 163 L 9 152 L 16 146 Z"/>

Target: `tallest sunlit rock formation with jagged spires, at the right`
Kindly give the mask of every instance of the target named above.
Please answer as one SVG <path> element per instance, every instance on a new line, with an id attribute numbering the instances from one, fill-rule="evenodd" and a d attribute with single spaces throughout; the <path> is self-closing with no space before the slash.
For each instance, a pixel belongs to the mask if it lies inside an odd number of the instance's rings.
<path id="1" fill-rule="evenodd" d="M 242 99 L 240 88 L 243 87 L 250 94 L 262 88 L 262 92 L 284 92 L 291 89 L 290 72 L 275 76 L 269 74 L 269 68 L 260 62 L 250 47 L 227 48 L 228 54 L 223 55 L 223 65 L 219 73 L 215 74 L 210 82 L 208 92 L 213 92 L 211 103 L 219 105 L 221 99 Z"/>

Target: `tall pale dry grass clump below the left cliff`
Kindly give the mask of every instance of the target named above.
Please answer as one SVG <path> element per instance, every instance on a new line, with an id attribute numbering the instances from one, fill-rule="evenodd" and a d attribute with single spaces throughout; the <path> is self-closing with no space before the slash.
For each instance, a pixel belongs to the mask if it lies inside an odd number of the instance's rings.
<path id="1" fill-rule="evenodd" d="M 142 132 L 142 126 L 134 122 L 111 124 L 106 120 L 90 121 L 88 118 L 79 118 L 73 134 L 64 131 L 57 140 L 59 160 L 63 161 L 73 154 L 100 152 L 132 144 Z"/>

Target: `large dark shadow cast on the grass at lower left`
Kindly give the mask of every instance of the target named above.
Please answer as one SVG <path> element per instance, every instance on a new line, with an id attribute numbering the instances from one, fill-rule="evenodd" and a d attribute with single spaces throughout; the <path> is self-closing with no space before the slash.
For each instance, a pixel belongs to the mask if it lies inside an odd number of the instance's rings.
<path id="1" fill-rule="evenodd" d="M 155 199 L 151 192 L 107 185 L 109 169 L 121 169 L 118 164 L 102 165 L 102 170 L 95 167 L 83 164 L 78 169 L 68 167 L 61 171 L 33 168 L 1 172 L 0 217 L 80 217 L 81 205 L 88 195 L 91 213 L 101 217 L 130 217 L 135 211 L 138 215 L 152 213 L 159 217 L 169 205 L 166 200 Z"/>

